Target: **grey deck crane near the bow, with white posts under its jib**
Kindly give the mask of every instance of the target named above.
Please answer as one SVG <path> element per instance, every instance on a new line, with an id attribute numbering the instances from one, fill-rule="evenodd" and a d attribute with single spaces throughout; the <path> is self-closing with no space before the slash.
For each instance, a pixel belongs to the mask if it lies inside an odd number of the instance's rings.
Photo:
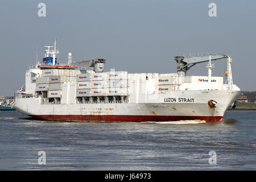
<path id="1" fill-rule="evenodd" d="M 212 77 L 212 68 L 214 68 L 214 64 L 211 61 L 226 58 L 227 61 L 227 71 L 226 80 L 228 81 L 228 89 L 232 90 L 233 80 L 232 80 L 232 70 L 231 70 L 231 62 L 232 58 L 226 54 L 213 54 L 213 55 L 203 55 L 203 56 L 175 56 L 174 60 L 177 63 L 177 73 L 179 76 L 186 76 L 187 71 L 196 64 L 205 63 L 208 61 L 208 77 Z"/>

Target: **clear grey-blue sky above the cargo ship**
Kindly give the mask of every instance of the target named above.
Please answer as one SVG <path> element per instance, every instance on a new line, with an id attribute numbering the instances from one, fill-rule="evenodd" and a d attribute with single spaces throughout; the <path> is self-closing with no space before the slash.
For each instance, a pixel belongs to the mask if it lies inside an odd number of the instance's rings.
<path id="1" fill-rule="evenodd" d="M 46 16 L 39 16 L 39 3 Z M 209 16 L 210 3 L 216 15 Z M 226 53 L 233 82 L 256 90 L 256 1 L 88 0 L 0 1 L 0 96 L 13 96 L 25 72 L 43 59 L 57 39 L 59 61 L 101 57 L 105 71 L 175 73 L 174 56 Z M 211 11 L 212 12 L 212 11 Z M 207 63 L 187 75 L 207 76 Z M 226 59 L 214 61 L 213 76 L 225 77 Z"/>

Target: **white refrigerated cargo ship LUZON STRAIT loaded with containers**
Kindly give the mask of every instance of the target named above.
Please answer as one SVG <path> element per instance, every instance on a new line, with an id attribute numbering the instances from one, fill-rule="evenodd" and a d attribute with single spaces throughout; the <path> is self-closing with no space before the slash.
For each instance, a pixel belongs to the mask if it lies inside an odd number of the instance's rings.
<path id="1" fill-rule="evenodd" d="M 15 93 L 15 109 L 49 121 L 164 122 L 221 121 L 235 107 L 240 88 L 233 84 L 229 55 L 174 56 L 176 73 L 104 72 L 102 58 L 60 64 L 56 39 L 43 60 L 26 71 L 26 89 Z M 212 76 L 213 60 L 226 59 L 224 77 Z M 207 76 L 187 76 L 207 63 Z"/>

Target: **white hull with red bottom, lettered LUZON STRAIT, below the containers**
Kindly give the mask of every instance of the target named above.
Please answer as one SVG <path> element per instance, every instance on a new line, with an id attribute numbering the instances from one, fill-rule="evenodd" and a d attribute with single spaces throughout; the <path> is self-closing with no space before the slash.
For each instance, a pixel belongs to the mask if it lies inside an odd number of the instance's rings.
<path id="1" fill-rule="evenodd" d="M 143 103 L 41 104 L 42 98 L 16 98 L 15 109 L 34 118 L 50 121 L 147 122 L 200 119 L 220 121 L 225 111 L 240 97 L 233 90 L 170 91 L 144 94 Z M 216 101 L 210 108 L 208 101 Z"/>

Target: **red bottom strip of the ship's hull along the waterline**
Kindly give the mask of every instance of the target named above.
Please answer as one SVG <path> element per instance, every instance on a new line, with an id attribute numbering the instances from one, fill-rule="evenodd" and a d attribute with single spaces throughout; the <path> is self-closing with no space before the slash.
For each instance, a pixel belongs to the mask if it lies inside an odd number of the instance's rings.
<path id="1" fill-rule="evenodd" d="M 37 119 L 49 121 L 106 121 L 106 122 L 161 122 L 161 121 L 180 121 L 180 120 L 203 120 L 206 122 L 220 121 L 222 116 L 176 116 L 176 115 L 30 115 Z"/>

